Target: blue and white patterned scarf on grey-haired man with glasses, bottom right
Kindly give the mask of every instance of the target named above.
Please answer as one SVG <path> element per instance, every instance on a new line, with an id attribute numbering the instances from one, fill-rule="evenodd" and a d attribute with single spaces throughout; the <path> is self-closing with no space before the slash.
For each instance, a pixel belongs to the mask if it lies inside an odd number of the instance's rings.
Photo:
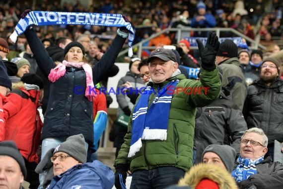
<path id="1" fill-rule="evenodd" d="M 264 156 L 256 160 L 251 160 L 241 158 L 241 156 L 239 156 L 237 159 L 237 163 L 239 163 L 239 165 L 234 171 L 232 171 L 232 177 L 234 177 L 236 182 L 241 182 L 247 180 L 251 175 L 257 174 L 256 165 L 263 161 L 263 157 Z"/>

